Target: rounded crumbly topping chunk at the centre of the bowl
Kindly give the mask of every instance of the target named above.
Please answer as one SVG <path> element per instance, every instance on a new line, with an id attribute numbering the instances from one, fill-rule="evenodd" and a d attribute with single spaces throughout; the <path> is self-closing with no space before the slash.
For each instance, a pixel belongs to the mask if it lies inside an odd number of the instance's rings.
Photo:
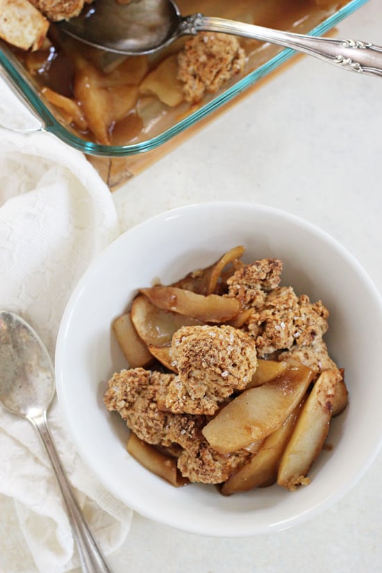
<path id="1" fill-rule="evenodd" d="M 172 338 L 178 378 L 169 383 L 166 406 L 174 413 L 213 415 L 256 370 L 253 338 L 232 326 L 183 326 Z"/>

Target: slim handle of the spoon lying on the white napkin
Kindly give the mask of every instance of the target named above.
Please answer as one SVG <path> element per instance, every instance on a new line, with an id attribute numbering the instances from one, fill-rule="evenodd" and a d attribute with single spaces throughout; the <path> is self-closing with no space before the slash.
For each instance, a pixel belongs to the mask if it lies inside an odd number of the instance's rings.
<path id="1" fill-rule="evenodd" d="M 28 417 L 28 420 L 33 424 L 33 426 L 35 426 L 35 429 L 37 429 L 40 434 L 40 438 L 42 439 L 42 442 L 47 449 L 49 459 L 51 460 L 51 465 L 54 473 L 56 474 L 58 485 L 60 486 L 60 490 L 67 507 L 69 522 L 72 525 L 73 535 L 77 543 L 83 572 L 110 573 L 110 570 L 103 560 L 97 544 L 92 537 L 92 533 L 90 533 L 88 525 L 85 522 L 83 513 L 74 498 L 69 482 L 67 481 L 67 476 L 65 475 L 63 466 L 60 463 L 56 448 L 54 447 L 53 440 L 49 433 L 46 413 L 35 417 Z"/>

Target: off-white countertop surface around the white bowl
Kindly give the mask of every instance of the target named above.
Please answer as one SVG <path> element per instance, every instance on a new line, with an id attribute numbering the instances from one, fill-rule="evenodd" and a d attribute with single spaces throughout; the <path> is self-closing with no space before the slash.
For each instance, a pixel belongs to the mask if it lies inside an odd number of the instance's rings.
<path id="1" fill-rule="evenodd" d="M 338 36 L 382 44 L 370 0 Z M 340 240 L 382 290 L 381 80 L 301 58 L 114 194 L 122 227 L 201 201 L 251 201 Z M 366 383 L 367 381 L 365 381 Z M 331 510 L 292 529 L 201 538 L 135 515 L 114 573 L 382 571 L 382 452 Z"/>

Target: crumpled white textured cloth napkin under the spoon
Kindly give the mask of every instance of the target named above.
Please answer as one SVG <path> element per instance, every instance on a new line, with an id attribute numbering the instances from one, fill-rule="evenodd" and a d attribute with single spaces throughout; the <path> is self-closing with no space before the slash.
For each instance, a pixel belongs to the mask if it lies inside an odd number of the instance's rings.
<path id="1" fill-rule="evenodd" d="M 1 78 L 0 102 L 0 125 L 14 119 L 22 127 L 17 102 Z M 0 128 L 0 308 L 31 322 L 52 358 L 70 293 L 118 232 L 110 191 L 82 153 L 49 133 Z M 85 467 L 57 401 L 49 411 L 49 427 L 90 529 L 107 555 L 126 538 L 131 510 Z M 38 435 L 0 406 L 0 571 L 61 573 L 78 564 L 60 490 Z"/>

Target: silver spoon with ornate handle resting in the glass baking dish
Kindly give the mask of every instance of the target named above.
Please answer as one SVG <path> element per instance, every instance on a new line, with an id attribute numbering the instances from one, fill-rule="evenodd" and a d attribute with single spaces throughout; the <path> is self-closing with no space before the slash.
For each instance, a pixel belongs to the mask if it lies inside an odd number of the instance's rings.
<path id="1" fill-rule="evenodd" d="M 224 32 L 292 48 L 350 72 L 382 76 L 382 47 L 369 42 L 317 38 L 202 14 L 183 17 L 173 0 L 95 0 L 80 16 L 58 25 L 92 46 L 135 55 L 155 52 L 183 35 Z"/>

